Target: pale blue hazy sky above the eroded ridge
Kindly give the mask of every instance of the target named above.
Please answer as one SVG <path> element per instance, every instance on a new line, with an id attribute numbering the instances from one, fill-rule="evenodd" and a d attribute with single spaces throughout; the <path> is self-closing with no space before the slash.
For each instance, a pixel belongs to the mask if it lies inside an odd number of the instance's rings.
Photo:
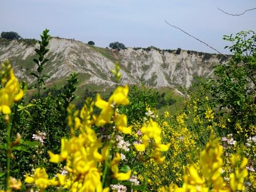
<path id="1" fill-rule="evenodd" d="M 165 23 L 165 20 L 222 53 L 229 42 L 223 35 L 256 32 L 255 0 L 0 0 L 0 33 L 15 31 L 22 38 L 39 39 L 44 29 L 54 37 L 74 38 L 106 47 L 155 46 L 215 53 L 209 47 Z"/>

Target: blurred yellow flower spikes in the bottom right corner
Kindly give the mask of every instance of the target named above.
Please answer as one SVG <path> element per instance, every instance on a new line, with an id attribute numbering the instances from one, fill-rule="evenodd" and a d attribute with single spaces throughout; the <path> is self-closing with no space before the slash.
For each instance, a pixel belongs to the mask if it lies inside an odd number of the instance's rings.
<path id="1" fill-rule="evenodd" d="M 230 185 L 227 185 L 222 174 L 222 146 L 217 139 L 210 138 L 205 150 L 201 153 L 201 174 L 198 174 L 197 167 L 194 165 L 187 166 L 185 175 L 183 176 L 182 187 L 170 185 L 169 187 L 162 187 L 159 191 L 167 192 L 186 192 L 186 191 L 222 191 L 235 192 L 244 191 L 244 180 L 247 176 L 247 159 L 239 155 L 231 156 L 231 164 L 234 166 L 234 172 L 230 174 Z"/>

